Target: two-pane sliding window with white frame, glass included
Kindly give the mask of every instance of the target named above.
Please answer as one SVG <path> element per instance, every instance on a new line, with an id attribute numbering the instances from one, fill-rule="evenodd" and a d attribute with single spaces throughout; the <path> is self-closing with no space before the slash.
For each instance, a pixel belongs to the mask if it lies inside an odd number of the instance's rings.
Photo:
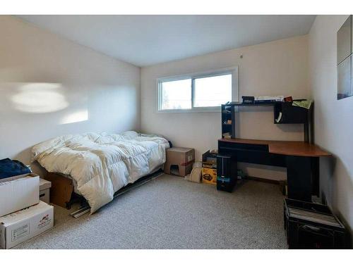
<path id="1" fill-rule="evenodd" d="M 238 68 L 158 80 L 158 111 L 220 111 L 238 101 Z"/>

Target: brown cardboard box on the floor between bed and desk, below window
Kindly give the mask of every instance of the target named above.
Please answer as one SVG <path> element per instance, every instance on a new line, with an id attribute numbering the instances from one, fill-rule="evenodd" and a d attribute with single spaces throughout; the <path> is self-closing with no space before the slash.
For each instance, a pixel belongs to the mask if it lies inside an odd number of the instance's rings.
<path id="1" fill-rule="evenodd" d="M 189 148 L 173 147 L 166 149 L 166 161 L 164 163 L 164 172 L 170 174 L 170 167 L 177 165 L 179 176 L 186 176 L 193 169 L 195 162 L 195 150 Z"/>

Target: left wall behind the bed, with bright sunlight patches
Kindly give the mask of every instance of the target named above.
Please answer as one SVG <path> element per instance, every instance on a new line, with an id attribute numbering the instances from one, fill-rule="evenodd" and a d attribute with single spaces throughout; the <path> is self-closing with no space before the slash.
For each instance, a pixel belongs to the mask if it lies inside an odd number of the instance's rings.
<path id="1" fill-rule="evenodd" d="M 140 68 L 8 15 L 0 36 L 0 158 L 29 164 L 52 137 L 139 130 Z"/>

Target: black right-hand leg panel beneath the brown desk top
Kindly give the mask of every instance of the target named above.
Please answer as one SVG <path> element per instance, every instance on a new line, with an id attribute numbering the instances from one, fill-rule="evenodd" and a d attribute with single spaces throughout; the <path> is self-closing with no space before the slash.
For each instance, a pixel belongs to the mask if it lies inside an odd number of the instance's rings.
<path id="1" fill-rule="evenodd" d="M 288 198 L 311 201 L 311 157 L 287 156 Z"/>

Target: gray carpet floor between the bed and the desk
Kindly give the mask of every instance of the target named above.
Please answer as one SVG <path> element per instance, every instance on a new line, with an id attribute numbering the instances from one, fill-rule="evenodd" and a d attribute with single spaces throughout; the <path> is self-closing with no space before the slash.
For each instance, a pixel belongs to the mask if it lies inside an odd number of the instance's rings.
<path id="1" fill-rule="evenodd" d="M 162 175 L 93 215 L 55 207 L 55 225 L 16 249 L 287 249 L 283 196 L 242 181 L 231 193 Z"/>

